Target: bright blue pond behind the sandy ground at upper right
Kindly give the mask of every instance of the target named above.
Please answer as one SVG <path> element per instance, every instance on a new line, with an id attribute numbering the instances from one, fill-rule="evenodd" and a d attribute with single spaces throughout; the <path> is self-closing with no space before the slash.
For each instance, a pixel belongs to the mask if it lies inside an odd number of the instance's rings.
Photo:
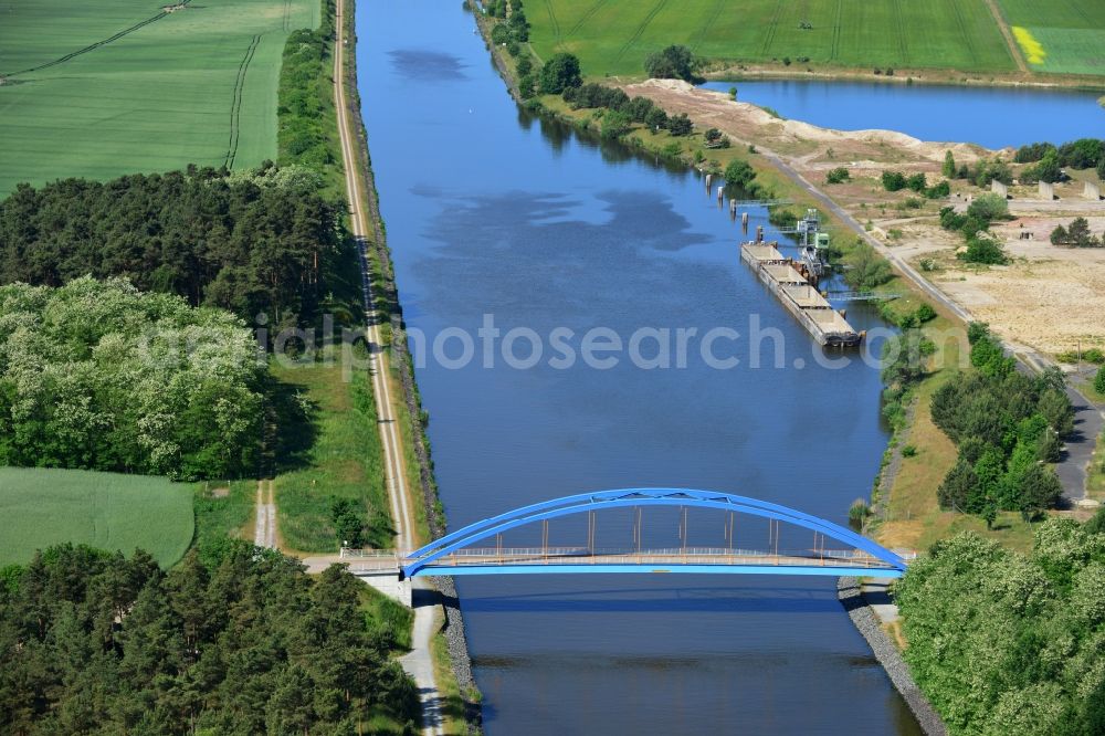
<path id="1" fill-rule="evenodd" d="M 707 82 L 741 102 L 786 118 L 838 130 L 883 129 L 922 140 L 975 143 L 987 148 L 1055 145 L 1099 138 L 1105 132 L 1102 92 L 904 85 L 890 82 L 769 80 Z"/>

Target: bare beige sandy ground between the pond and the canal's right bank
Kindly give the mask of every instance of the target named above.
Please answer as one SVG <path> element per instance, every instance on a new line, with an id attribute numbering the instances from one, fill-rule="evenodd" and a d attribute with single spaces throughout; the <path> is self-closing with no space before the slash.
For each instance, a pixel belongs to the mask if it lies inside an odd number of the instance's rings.
<path id="1" fill-rule="evenodd" d="M 955 259 L 962 240 L 939 228 L 937 211 L 949 203 L 926 202 L 920 210 L 902 210 L 912 192 L 883 191 L 884 170 L 925 171 L 939 177 L 945 153 L 959 164 L 1013 151 L 991 151 L 972 144 L 923 141 L 892 130 L 842 132 L 800 120 L 780 120 L 759 107 L 730 101 L 725 93 L 693 87 L 685 82 L 649 80 L 624 85 L 627 94 L 649 97 L 669 113 L 686 113 L 699 127 L 716 127 L 739 144 L 772 151 L 811 182 L 824 181 L 824 171 L 846 166 L 853 181 L 822 190 L 876 238 L 917 264 L 929 259 L 937 270 L 930 281 L 1007 340 L 1055 354 L 1087 346 L 1105 346 L 1105 249 L 1066 249 L 1049 242 L 1057 224 L 1074 217 L 1090 220 L 1091 230 L 1105 232 L 1105 202 L 1081 197 L 1082 182 L 1056 188 L 1059 199 L 1043 201 L 1035 187 L 1015 187 L 1010 211 L 1013 222 L 996 229 L 1013 261 L 1008 266 L 966 267 Z M 951 204 L 965 209 L 968 198 L 982 190 L 953 182 Z M 956 196 L 958 194 L 958 197 Z M 1033 240 L 1020 240 L 1029 231 Z"/>

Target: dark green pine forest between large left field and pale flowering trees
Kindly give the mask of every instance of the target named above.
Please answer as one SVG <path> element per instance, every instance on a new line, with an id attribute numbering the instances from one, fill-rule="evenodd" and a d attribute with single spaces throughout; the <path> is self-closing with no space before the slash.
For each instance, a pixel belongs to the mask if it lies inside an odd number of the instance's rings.
<path id="1" fill-rule="evenodd" d="M 251 323 L 311 323 L 350 262 L 322 186 L 314 171 L 272 164 L 20 185 L 0 202 L 0 283 L 125 276 Z"/>

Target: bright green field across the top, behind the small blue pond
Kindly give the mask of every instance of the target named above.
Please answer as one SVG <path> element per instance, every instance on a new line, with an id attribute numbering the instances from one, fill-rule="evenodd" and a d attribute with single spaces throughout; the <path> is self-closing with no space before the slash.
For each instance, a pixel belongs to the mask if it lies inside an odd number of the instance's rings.
<path id="1" fill-rule="evenodd" d="M 643 75 L 672 43 L 733 62 L 1017 70 L 985 0 L 529 0 L 526 17 L 538 55 L 570 51 L 591 76 Z"/>

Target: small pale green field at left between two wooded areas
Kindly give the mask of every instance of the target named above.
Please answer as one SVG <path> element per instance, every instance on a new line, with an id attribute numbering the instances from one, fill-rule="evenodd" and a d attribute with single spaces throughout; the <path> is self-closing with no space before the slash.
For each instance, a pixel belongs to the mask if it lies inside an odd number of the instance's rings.
<path id="1" fill-rule="evenodd" d="M 91 471 L 0 467 L 0 565 L 71 542 L 162 566 L 192 542 L 192 487 L 161 477 Z"/>

